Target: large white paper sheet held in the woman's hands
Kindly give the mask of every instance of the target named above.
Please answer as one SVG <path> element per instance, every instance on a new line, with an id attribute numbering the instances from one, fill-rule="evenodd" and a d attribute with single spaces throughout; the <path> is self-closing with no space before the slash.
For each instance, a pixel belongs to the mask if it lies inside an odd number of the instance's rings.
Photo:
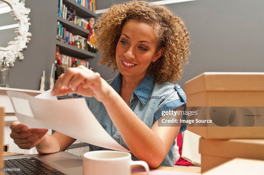
<path id="1" fill-rule="evenodd" d="M 36 97 L 15 91 L 7 95 L 18 120 L 29 128 L 54 129 L 89 144 L 129 152 L 103 129 L 83 98 L 56 100 L 51 90 Z"/>

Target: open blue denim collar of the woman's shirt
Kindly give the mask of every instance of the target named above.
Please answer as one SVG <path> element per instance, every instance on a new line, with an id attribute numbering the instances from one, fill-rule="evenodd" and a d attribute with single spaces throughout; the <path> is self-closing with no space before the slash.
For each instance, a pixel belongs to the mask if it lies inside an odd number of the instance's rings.
<path id="1" fill-rule="evenodd" d="M 114 88 L 119 95 L 120 95 L 121 81 L 122 81 L 122 74 L 119 72 L 119 74 L 110 83 L 110 86 L 112 86 L 112 88 Z M 155 84 L 154 77 L 150 76 L 149 74 L 145 75 L 144 78 L 139 83 L 139 85 L 133 91 L 132 96 L 136 94 L 136 96 L 138 96 L 143 106 L 145 106 L 153 90 L 154 84 Z"/>

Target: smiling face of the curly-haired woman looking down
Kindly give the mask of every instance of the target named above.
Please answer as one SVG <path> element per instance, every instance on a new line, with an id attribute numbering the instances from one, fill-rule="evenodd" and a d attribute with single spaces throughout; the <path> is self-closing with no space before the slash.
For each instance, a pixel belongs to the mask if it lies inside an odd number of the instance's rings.
<path id="1" fill-rule="evenodd" d="M 116 63 L 123 76 L 143 79 L 150 63 L 162 55 L 161 50 L 156 52 L 156 32 L 145 22 L 130 20 L 124 24 L 116 46 Z"/>

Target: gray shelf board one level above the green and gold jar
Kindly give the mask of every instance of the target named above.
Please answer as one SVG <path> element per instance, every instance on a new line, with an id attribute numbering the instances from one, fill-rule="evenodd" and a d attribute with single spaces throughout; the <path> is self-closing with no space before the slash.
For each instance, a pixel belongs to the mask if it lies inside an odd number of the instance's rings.
<path id="1" fill-rule="evenodd" d="M 72 22 L 69 22 L 68 20 L 63 19 L 62 17 L 58 16 L 58 21 L 62 23 L 63 27 L 65 27 L 67 31 L 73 33 L 73 35 L 80 35 L 84 38 L 87 38 L 89 35 L 89 30 L 78 26 L 77 24 L 74 24 Z"/>

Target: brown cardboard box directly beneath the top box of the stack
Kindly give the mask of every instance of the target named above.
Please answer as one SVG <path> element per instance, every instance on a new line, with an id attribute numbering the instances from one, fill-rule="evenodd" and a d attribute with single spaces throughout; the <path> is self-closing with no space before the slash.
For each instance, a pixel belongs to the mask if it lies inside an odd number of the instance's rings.
<path id="1" fill-rule="evenodd" d="M 233 158 L 264 160 L 264 139 L 209 140 L 200 138 L 201 172 Z"/>

